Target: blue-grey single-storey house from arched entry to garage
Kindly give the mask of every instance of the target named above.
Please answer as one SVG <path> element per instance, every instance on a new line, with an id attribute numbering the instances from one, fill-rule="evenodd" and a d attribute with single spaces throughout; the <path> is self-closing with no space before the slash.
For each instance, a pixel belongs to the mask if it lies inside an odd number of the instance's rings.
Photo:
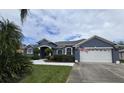
<path id="1" fill-rule="evenodd" d="M 99 36 L 77 41 L 51 42 L 43 39 L 38 42 L 40 56 L 46 56 L 45 49 L 53 49 L 53 55 L 73 55 L 78 62 L 116 63 L 119 60 L 117 44 Z"/>

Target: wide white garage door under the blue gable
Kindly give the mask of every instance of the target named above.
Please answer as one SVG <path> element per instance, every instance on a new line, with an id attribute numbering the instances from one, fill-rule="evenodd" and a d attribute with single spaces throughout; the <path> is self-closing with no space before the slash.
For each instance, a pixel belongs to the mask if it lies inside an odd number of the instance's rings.
<path id="1" fill-rule="evenodd" d="M 111 49 L 80 50 L 80 62 L 107 62 L 112 63 Z"/>

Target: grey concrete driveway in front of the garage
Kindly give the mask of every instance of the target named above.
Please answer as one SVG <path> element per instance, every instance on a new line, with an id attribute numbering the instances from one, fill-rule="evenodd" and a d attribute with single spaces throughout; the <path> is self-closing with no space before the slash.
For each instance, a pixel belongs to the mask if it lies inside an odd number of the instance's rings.
<path id="1" fill-rule="evenodd" d="M 68 83 L 124 83 L 124 65 L 112 63 L 75 64 Z"/>

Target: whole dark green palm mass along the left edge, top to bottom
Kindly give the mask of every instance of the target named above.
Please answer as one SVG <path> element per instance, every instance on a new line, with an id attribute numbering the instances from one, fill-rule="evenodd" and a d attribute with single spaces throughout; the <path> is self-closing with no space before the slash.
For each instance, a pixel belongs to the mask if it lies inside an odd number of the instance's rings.
<path id="1" fill-rule="evenodd" d="M 0 21 L 0 82 L 13 82 L 31 71 L 30 61 L 19 54 L 23 34 L 19 26 L 7 20 Z"/>

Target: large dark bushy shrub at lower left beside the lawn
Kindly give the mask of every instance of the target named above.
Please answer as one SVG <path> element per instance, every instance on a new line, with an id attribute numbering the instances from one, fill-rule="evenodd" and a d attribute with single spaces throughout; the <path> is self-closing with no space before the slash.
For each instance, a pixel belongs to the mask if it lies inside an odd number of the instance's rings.
<path id="1" fill-rule="evenodd" d="M 17 82 L 32 71 L 32 63 L 22 54 L 9 56 L 7 64 L 2 61 L 2 59 L 4 60 L 3 56 L 1 57 L 0 82 Z"/>

